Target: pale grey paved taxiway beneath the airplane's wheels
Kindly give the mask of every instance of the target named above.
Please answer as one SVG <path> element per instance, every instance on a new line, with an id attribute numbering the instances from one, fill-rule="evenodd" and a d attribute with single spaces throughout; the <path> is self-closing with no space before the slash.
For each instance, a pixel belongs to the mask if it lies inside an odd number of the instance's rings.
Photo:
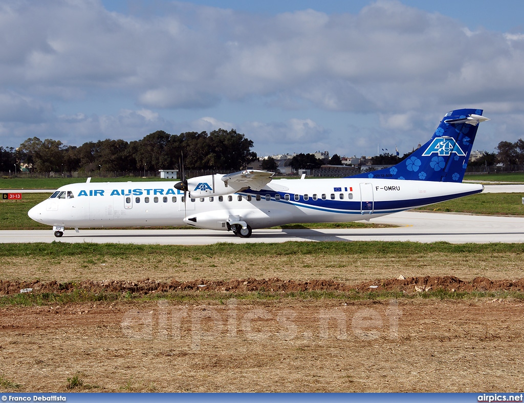
<path id="1" fill-rule="evenodd" d="M 524 242 L 524 217 L 473 216 L 442 212 L 404 211 L 371 222 L 398 225 L 369 229 L 259 229 L 250 238 L 227 231 L 80 230 L 67 229 L 62 238 L 49 230 L 0 231 L 0 243 L 68 242 L 208 245 L 217 242 L 271 243 L 287 241 L 414 241 L 450 243 Z"/>

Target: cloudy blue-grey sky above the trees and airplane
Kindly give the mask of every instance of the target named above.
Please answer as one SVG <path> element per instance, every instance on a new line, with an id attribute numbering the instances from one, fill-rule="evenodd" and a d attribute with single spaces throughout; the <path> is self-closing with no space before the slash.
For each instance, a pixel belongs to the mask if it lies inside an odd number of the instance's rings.
<path id="1" fill-rule="evenodd" d="M 235 129 L 259 156 L 410 152 L 484 109 L 522 137 L 524 3 L 3 0 L 0 146 Z"/>

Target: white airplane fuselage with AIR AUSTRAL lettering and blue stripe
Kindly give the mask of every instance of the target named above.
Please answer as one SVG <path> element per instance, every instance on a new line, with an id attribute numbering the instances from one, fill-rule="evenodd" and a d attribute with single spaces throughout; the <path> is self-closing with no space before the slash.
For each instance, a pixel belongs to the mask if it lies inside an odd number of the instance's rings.
<path id="1" fill-rule="evenodd" d="M 182 226 L 227 230 L 293 222 L 343 222 L 379 217 L 482 192 L 477 184 L 390 179 L 273 180 L 261 191 L 191 198 L 176 182 L 77 183 L 60 187 L 29 210 L 35 221 L 72 228 Z"/>

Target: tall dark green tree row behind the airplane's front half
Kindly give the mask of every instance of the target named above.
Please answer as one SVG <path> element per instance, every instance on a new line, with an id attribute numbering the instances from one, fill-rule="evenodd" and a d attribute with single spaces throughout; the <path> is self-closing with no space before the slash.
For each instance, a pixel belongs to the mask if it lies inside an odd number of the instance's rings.
<path id="1" fill-rule="evenodd" d="M 253 141 L 231 129 L 170 135 L 158 130 L 141 140 L 99 140 L 79 147 L 60 140 L 28 138 L 18 149 L 0 147 L 0 171 L 31 172 L 241 170 L 257 159 Z"/>

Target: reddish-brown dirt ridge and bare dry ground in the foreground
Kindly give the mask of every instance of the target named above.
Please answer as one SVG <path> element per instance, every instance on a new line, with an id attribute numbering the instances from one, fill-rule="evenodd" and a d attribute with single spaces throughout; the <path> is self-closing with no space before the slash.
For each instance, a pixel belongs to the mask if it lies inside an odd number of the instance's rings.
<path id="1" fill-rule="evenodd" d="M 2 391 L 522 391 L 520 299 L 254 299 L 257 290 L 519 291 L 524 280 L 84 281 L 137 294 L 238 292 L 238 298 L 51 304 L 0 310 Z M 418 287 L 419 291 L 415 287 Z M 432 287 L 432 288 L 429 288 Z M 0 282 L 0 294 L 68 292 Z M 233 293 L 233 294 L 232 294 Z M 249 294 L 248 294 L 249 295 Z M 72 389 L 71 389 L 72 388 Z"/>

